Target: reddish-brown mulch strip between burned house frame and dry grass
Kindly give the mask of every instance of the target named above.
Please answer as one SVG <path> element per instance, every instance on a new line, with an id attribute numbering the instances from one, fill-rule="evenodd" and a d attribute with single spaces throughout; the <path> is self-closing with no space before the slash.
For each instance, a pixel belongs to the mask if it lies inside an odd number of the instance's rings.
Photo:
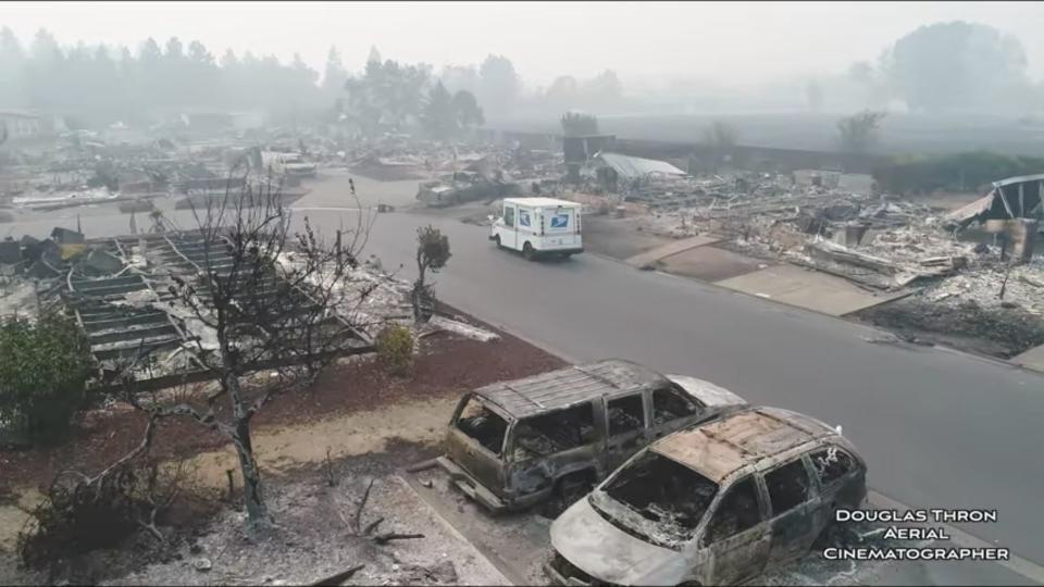
<path id="1" fill-rule="evenodd" d="M 427 337 L 423 339 L 411 375 L 402 378 L 387 375 L 372 360 L 336 365 L 309 391 L 275 398 L 257 415 L 254 423 L 301 424 L 402 401 L 444 398 L 566 364 L 481 321 L 464 320 L 497 332 L 500 340 L 480 342 L 445 333 Z M 146 420 L 140 412 L 117 404 L 111 410 L 83 414 L 74 424 L 70 439 L 59 446 L 0 450 L 0 500 L 12 497 L 16 487 L 33 485 L 42 489 L 63 470 L 100 471 L 140 441 Z M 188 417 L 161 421 L 154 438 L 153 454 L 160 459 L 188 458 L 228 444 L 216 430 Z"/>

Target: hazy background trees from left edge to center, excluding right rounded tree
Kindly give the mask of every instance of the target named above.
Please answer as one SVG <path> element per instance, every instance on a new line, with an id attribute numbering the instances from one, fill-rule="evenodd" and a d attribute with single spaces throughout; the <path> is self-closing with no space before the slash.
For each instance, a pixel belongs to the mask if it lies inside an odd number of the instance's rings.
<path id="1" fill-rule="evenodd" d="M 448 99 L 447 99 L 448 96 Z M 331 48 L 320 73 L 300 55 L 212 53 L 201 42 L 149 38 L 138 47 L 80 42 L 63 47 L 46 29 L 27 43 L 0 29 L 0 108 L 74 114 L 95 125 L 132 122 L 164 111 L 252 110 L 349 120 L 365 133 L 423 126 L 447 137 L 504 117 L 515 109 L 619 104 L 623 90 L 607 71 L 589 80 L 556 79 L 525 95 L 511 60 L 489 55 L 477 65 L 428 64 L 381 58 L 372 49 L 361 72 L 349 72 Z"/>

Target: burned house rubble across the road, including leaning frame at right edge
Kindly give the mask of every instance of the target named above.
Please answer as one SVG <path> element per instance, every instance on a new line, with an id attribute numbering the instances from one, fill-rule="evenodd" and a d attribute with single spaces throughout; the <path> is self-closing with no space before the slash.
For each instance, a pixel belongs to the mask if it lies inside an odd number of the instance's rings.
<path id="1" fill-rule="evenodd" d="M 904 338 L 1009 358 L 1044 344 L 1040 184 L 1004 179 L 953 212 L 831 170 L 650 175 L 600 205 L 584 201 L 606 212 L 622 202 L 645 234 L 712 238 L 751 264 L 796 265 L 900 298 L 853 315 Z"/>

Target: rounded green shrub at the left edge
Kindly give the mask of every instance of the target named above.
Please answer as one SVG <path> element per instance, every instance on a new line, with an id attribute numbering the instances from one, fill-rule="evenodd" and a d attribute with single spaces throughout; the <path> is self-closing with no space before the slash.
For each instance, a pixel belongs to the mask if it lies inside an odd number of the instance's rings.
<path id="1" fill-rule="evenodd" d="M 62 438 L 84 404 L 92 362 L 76 324 L 61 314 L 8 321 L 0 357 L 0 420 L 30 441 Z"/>

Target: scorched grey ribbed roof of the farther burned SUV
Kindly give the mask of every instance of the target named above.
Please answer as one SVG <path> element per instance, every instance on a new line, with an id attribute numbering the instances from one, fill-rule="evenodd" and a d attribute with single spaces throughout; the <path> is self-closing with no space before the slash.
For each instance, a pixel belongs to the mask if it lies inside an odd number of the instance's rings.
<path id="1" fill-rule="evenodd" d="M 610 359 L 574 365 L 474 391 L 506 415 L 523 419 L 595 398 L 632 394 L 669 385 L 659 373 L 630 361 Z"/>

